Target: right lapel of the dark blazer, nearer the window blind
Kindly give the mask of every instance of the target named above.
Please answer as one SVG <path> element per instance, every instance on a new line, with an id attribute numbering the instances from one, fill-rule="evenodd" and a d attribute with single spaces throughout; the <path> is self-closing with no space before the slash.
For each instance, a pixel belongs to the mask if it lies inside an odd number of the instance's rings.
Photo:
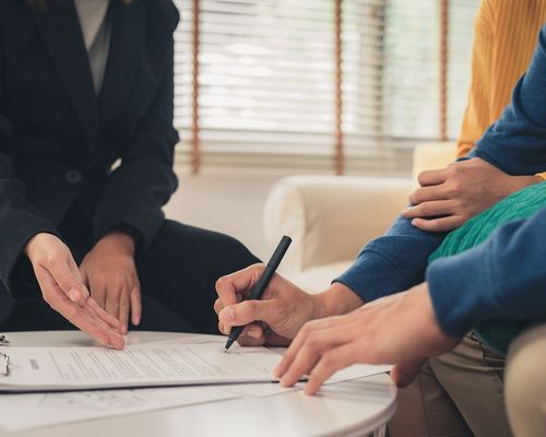
<path id="1" fill-rule="evenodd" d="M 123 4 L 112 0 L 110 49 L 98 95 L 98 115 L 104 128 L 112 121 L 129 97 L 146 35 L 146 10 L 142 1 Z"/>

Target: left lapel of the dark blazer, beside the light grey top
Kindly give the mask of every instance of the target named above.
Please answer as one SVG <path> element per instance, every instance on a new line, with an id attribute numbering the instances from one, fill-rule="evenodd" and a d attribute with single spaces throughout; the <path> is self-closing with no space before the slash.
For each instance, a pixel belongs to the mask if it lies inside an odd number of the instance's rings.
<path id="1" fill-rule="evenodd" d="M 35 13 L 38 29 L 70 95 L 90 147 L 98 133 L 97 98 L 74 4 L 61 0 Z"/>

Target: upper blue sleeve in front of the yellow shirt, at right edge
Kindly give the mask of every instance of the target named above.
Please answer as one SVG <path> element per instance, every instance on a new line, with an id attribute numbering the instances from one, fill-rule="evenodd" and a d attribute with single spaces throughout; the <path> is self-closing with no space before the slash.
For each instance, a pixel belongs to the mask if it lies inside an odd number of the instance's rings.
<path id="1" fill-rule="evenodd" d="M 468 157 L 480 157 L 510 175 L 546 169 L 546 26 L 512 102 L 489 127 Z"/>

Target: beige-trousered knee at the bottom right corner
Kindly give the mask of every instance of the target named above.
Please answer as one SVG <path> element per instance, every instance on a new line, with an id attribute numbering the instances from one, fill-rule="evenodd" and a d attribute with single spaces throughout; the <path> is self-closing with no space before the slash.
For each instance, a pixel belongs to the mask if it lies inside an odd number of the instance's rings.
<path id="1" fill-rule="evenodd" d="M 517 436 L 546 430 L 546 324 L 523 332 L 510 346 L 506 370 L 506 405 Z"/>

